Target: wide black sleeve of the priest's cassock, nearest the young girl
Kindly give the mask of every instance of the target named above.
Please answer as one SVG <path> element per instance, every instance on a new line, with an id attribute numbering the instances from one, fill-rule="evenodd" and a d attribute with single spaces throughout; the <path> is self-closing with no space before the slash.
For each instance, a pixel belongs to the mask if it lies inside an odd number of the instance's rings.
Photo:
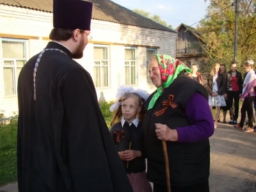
<path id="1" fill-rule="evenodd" d="M 80 66 L 63 74 L 60 92 L 75 191 L 132 191 L 100 111 L 92 77 Z"/>

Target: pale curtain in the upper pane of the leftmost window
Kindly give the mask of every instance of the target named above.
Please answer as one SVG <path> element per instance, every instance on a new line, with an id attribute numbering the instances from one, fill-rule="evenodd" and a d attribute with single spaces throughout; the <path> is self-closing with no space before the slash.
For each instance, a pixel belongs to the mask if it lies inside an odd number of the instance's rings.
<path id="1" fill-rule="evenodd" d="M 26 58 L 25 42 L 2 41 L 3 58 Z"/>

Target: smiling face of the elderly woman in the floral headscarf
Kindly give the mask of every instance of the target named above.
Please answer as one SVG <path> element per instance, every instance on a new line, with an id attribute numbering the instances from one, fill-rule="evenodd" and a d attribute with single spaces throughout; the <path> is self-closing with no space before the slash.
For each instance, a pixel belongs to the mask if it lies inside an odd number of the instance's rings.
<path id="1" fill-rule="evenodd" d="M 150 79 L 154 85 L 159 88 L 162 85 L 162 79 L 160 74 L 160 69 L 157 60 L 152 60 L 148 65 L 148 73 L 150 74 Z"/>

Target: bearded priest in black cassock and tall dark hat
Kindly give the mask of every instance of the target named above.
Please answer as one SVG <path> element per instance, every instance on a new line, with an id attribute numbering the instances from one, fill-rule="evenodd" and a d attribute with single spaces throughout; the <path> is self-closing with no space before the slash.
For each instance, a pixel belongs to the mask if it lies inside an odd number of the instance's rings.
<path id="1" fill-rule="evenodd" d="M 132 191 L 81 58 L 90 38 L 92 3 L 53 4 L 51 42 L 18 81 L 19 191 Z"/>

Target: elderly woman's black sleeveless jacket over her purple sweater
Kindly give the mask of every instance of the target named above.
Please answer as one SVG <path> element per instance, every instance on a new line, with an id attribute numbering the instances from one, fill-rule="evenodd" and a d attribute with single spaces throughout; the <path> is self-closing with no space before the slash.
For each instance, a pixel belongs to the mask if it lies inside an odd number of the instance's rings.
<path id="1" fill-rule="evenodd" d="M 147 154 L 147 177 L 150 182 L 166 185 L 166 172 L 164 164 L 163 147 L 157 140 L 156 126 L 154 124 L 166 124 L 170 129 L 191 125 L 186 116 L 185 106 L 193 93 L 199 92 L 208 100 L 208 94 L 202 84 L 192 81 L 191 78 L 181 75 L 164 90 L 154 108 L 147 111 L 143 121 L 143 134 L 145 136 L 145 150 Z M 148 97 L 146 109 L 152 95 Z M 163 109 L 163 100 L 168 100 L 170 95 L 174 96 L 177 108 L 168 106 L 161 116 L 155 113 Z M 200 104 L 200 103 L 198 103 Z M 210 168 L 210 145 L 209 139 L 198 143 L 178 143 L 166 141 L 170 182 L 172 186 L 191 186 L 199 184 L 209 178 Z"/>

